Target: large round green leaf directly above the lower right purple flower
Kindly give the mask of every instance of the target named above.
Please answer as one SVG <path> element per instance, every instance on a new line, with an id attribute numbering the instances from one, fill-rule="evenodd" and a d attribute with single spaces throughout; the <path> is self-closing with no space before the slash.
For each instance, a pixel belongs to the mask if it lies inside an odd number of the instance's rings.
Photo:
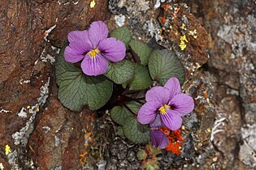
<path id="1" fill-rule="evenodd" d="M 154 50 L 149 61 L 150 76 L 163 86 L 168 79 L 176 77 L 180 85 L 184 83 L 184 67 L 176 54 L 167 50 Z"/>

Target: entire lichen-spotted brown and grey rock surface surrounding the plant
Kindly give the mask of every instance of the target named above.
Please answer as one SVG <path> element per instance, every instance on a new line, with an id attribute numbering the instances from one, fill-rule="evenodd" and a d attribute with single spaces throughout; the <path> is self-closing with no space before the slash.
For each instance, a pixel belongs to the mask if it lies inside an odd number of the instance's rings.
<path id="1" fill-rule="evenodd" d="M 116 137 L 108 113 L 72 113 L 57 99 L 54 57 L 67 32 L 110 17 L 109 28 L 126 24 L 138 40 L 154 37 L 184 64 L 183 89 L 196 108 L 183 120 L 181 155 L 163 152 L 162 167 L 255 168 L 255 2 L 90 2 L 0 2 L 0 169 L 141 168 L 136 155 L 144 146 Z M 180 50 L 184 34 L 188 43 Z"/>

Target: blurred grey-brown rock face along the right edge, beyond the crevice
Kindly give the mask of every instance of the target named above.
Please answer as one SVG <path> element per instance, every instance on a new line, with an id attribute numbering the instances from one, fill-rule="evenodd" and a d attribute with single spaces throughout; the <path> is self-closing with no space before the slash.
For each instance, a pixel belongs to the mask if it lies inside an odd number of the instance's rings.
<path id="1" fill-rule="evenodd" d="M 237 155 L 242 157 L 241 151 L 245 151 L 245 145 L 239 151 L 238 142 L 243 142 L 241 127 L 255 124 L 255 3 L 187 2 L 209 33 L 208 68 L 215 74 L 218 84 L 214 94 L 218 105 L 212 138 L 221 154 L 219 167 L 249 169 L 237 161 Z"/>

